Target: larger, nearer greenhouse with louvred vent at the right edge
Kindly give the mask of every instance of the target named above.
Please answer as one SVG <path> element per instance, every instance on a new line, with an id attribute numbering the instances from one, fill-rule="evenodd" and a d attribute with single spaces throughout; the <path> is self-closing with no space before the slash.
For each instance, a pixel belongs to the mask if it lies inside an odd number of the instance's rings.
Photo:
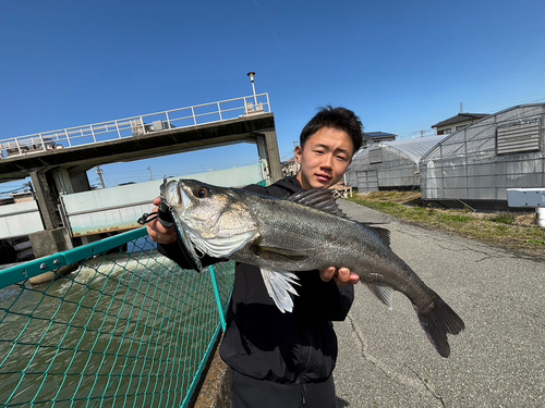
<path id="1" fill-rule="evenodd" d="M 486 116 L 445 137 L 420 161 L 424 201 L 507 208 L 508 188 L 545 186 L 545 104 Z"/>

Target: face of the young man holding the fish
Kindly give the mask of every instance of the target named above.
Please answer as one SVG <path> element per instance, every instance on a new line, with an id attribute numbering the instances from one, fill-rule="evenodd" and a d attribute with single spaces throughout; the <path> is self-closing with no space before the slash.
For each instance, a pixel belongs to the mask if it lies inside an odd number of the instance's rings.
<path id="1" fill-rule="evenodd" d="M 301 165 L 298 180 L 303 189 L 329 188 L 338 183 L 347 171 L 354 145 L 344 131 L 323 127 L 306 139 L 303 148 L 295 148 Z"/>

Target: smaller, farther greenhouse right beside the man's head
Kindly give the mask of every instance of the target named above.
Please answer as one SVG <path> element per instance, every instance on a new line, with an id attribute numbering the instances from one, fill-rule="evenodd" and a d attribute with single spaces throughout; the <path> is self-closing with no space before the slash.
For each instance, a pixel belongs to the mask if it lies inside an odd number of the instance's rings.
<path id="1" fill-rule="evenodd" d="M 347 171 L 347 185 L 359 193 L 419 188 L 419 161 L 446 136 L 383 141 L 359 150 Z"/>

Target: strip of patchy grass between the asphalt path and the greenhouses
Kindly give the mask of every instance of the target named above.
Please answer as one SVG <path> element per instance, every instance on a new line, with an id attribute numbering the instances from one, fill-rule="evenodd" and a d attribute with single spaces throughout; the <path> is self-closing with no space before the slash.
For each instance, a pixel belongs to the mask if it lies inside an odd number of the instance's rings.
<path id="1" fill-rule="evenodd" d="M 535 213 L 473 212 L 420 207 L 420 193 L 374 191 L 354 195 L 352 202 L 397 219 L 477 239 L 506 250 L 545 260 L 545 228 L 537 226 Z"/>

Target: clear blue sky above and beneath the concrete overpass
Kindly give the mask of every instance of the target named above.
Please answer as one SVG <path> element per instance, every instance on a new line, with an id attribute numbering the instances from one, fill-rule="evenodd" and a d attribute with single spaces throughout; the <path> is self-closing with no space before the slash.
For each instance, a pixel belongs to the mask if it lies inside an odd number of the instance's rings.
<path id="1" fill-rule="evenodd" d="M 544 15 L 542 0 L 0 0 L 0 139 L 250 96 L 250 71 L 282 159 L 328 103 L 367 132 L 432 134 L 460 103 L 545 101 Z M 104 174 L 113 186 L 148 166 L 157 178 L 256 161 L 238 145 Z"/>

